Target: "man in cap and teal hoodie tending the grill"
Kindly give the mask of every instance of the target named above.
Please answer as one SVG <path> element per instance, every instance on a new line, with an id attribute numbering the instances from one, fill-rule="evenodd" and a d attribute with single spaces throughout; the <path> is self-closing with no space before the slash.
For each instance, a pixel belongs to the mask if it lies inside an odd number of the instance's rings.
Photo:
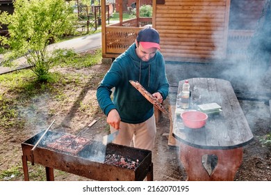
<path id="1" fill-rule="evenodd" d="M 136 148 L 154 148 L 154 105 L 129 80 L 139 81 L 159 102 L 167 98 L 169 84 L 159 43 L 160 36 L 155 29 L 148 27 L 139 31 L 133 45 L 113 61 L 97 88 L 97 100 L 107 116 L 110 132 L 119 131 L 114 143 L 131 146 L 133 140 Z"/>

